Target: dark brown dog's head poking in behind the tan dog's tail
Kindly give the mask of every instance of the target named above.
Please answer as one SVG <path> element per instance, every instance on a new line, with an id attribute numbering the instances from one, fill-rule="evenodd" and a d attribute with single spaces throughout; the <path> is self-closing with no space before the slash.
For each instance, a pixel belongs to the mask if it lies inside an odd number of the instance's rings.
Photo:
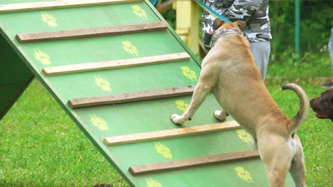
<path id="1" fill-rule="evenodd" d="M 310 100 L 311 108 L 317 118 L 328 118 L 333 121 L 333 89 L 327 89 L 318 98 Z"/>

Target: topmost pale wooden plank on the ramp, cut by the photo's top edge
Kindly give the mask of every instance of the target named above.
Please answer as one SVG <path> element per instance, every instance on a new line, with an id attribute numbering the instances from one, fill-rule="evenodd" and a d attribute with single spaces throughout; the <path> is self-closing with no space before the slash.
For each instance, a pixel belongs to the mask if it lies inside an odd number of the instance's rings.
<path id="1" fill-rule="evenodd" d="M 132 3 L 143 0 L 59 0 L 59 1 L 41 1 L 33 3 L 11 3 L 0 5 L 0 13 L 22 12 L 31 10 L 46 10 L 56 8 L 71 8 L 82 6 L 98 6 L 115 3 Z"/>

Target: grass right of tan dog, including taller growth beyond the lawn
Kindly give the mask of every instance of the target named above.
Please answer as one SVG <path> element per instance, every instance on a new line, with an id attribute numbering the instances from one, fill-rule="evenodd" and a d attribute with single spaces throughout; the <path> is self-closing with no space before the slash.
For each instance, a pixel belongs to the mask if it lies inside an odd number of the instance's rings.
<path id="1" fill-rule="evenodd" d="M 293 55 L 285 55 L 284 59 L 282 62 L 270 62 L 266 87 L 284 114 L 291 118 L 298 112 L 299 101 L 293 91 L 280 91 L 280 85 L 299 78 L 298 84 L 305 90 L 309 99 L 318 97 L 324 91 L 321 84 L 328 79 L 316 78 L 330 78 L 332 70 L 328 53 L 305 53 L 299 62 L 294 61 Z M 305 152 L 307 186 L 333 186 L 332 121 L 316 118 L 310 109 L 307 120 L 300 126 L 297 134 Z"/>

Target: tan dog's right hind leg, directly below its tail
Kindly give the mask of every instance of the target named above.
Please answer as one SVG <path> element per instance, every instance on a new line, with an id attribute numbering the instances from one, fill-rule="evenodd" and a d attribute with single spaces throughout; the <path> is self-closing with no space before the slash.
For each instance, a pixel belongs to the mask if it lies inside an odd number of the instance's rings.
<path id="1" fill-rule="evenodd" d="M 296 187 L 305 187 L 305 161 L 302 145 L 300 143 L 300 139 L 298 136 L 294 135 L 295 139 L 295 156 L 291 161 L 291 167 L 289 168 L 289 172 L 293 177 L 293 181 L 295 182 Z"/>

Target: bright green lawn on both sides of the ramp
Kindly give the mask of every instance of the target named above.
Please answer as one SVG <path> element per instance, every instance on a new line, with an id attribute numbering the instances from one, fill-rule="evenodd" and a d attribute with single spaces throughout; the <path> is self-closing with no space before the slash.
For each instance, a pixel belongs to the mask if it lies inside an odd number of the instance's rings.
<path id="1" fill-rule="evenodd" d="M 328 67 L 328 60 L 324 64 Z M 309 98 L 323 91 L 321 84 L 305 78 L 311 76 L 311 71 L 298 76 L 302 69 L 307 69 L 307 64 L 296 64 L 293 71 L 281 64 L 270 66 L 268 91 L 289 117 L 298 112 L 298 98 L 293 91 L 280 91 L 280 85 L 286 80 L 270 80 L 272 76 L 302 77 L 299 84 Z M 320 69 L 325 68 L 317 66 L 312 71 Z M 327 76 L 328 71 L 325 72 Z M 333 186 L 332 132 L 332 122 L 318 120 L 311 110 L 298 130 L 305 150 L 307 186 Z M 34 80 L 0 121 L 0 186 L 94 184 L 128 186 L 42 84 Z"/>

